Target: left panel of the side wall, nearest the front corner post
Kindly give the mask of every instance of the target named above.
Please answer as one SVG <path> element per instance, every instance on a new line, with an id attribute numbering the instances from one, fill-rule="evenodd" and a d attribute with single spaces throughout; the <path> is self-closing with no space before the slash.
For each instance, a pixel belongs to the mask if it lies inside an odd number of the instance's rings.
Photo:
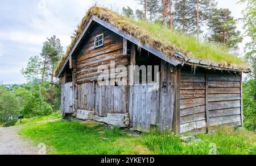
<path id="1" fill-rule="evenodd" d="M 180 132 L 207 131 L 205 111 L 205 72 L 181 68 L 180 74 Z"/>

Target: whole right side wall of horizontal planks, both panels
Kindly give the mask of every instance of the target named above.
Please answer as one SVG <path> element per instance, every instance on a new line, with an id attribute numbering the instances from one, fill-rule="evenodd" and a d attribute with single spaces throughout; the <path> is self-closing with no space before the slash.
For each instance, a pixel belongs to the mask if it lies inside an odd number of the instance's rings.
<path id="1" fill-rule="evenodd" d="M 240 74 L 183 68 L 180 81 L 181 133 L 242 124 Z"/>

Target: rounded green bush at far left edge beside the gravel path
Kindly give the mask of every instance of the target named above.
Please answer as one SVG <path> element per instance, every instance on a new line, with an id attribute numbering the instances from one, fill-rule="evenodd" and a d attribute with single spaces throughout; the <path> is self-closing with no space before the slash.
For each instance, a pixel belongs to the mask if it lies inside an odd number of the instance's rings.
<path id="1" fill-rule="evenodd" d="M 0 89 L 0 125 L 9 127 L 18 121 L 20 102 L 14 93 Z"/>

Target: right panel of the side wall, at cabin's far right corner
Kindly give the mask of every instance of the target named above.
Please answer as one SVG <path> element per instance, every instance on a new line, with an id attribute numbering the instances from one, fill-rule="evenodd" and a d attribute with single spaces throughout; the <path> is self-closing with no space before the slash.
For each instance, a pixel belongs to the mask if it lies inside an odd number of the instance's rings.
<path id="1" fill-rule="evenodd" d="M 210 127 L 242 125 L 242 78 L 239 73 L 207 72 Z"/>

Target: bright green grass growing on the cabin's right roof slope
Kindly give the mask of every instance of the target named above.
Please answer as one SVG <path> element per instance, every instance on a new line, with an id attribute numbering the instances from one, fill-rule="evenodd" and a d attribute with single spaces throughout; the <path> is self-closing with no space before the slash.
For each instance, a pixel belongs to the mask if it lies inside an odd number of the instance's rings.
<path id="1" fill-rule="evenodd" d="M 216 63 L 225 62 L 228 64 L 245 65 L 238 57 L 228 53 L 228 49 L 220 44 L 212 42 L 201 43 L 197 38 L 183 34 L 170 28 L 162 26 L 159 23 L 148 23 L 126 19 L 135 25 L 142 27 L 153 38 L 164 43 L 179 47 L 182 51 L 187 52 L 190 57 L 195 59 L 210 60 Z"/>

